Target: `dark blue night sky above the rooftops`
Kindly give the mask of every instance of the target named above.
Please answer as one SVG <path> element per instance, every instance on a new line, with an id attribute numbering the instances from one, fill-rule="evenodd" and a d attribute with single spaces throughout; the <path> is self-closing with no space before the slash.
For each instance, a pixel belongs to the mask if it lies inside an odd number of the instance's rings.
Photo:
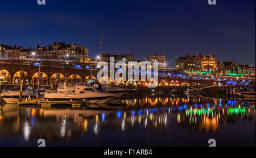
<path id="1" fill-rule="evenodd" d="M 0 43 L 36 47 L 53 40 L 100 53 L 167 56 L 186 53 L 255 65 L 255 0 L 0 0 Z"/>

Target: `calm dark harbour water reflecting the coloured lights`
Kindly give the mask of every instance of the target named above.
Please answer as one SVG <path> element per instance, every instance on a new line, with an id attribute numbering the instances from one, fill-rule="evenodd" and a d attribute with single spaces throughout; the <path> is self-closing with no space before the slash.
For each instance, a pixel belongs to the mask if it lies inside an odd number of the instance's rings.
<path id="1" fill-rule="evenodd" d="M 255 103 L 147 95 L 115 104 L 33 108 L 0 103 L 0 146 L 255 146 Z M 108 107 L 113 110 L 103 110 Z"/>

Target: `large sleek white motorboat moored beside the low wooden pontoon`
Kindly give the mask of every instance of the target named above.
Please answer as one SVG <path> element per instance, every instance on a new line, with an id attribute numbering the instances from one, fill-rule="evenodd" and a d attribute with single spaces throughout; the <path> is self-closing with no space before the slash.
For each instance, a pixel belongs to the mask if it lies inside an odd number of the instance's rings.
<path id="1" fill-rule="evenodd" d="M 125 93 L 106 93 L 100 92 L 93 86 L 75 85 L 66 88 L 58 88 L 57 91 L 47 90 L 44 99 L 55 101 L 81 101 L 89 100 L 90 103 L 105 103 L 112 98 L 121 97 Z"/>

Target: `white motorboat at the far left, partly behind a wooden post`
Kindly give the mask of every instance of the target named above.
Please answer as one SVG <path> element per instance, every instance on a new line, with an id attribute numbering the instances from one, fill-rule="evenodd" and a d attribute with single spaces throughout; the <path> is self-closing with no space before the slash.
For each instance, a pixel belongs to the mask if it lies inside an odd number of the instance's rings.
<path id="1" fill-rule="evenodd" d="M 17 85 L 11 88 L 9 91 L 3 92 L 1 94 L 1 97 L 6 103 L 17 103 L 19 102 L 19 91 L 20 86 Z M 22 90 L 22 98 L 28 98 L 28 96 L 30 96 L 30 98 L 33 98 L 36 97 L 36 94 L 33 93 L 33 89 L 31 86 L 24 85 Z"/>

